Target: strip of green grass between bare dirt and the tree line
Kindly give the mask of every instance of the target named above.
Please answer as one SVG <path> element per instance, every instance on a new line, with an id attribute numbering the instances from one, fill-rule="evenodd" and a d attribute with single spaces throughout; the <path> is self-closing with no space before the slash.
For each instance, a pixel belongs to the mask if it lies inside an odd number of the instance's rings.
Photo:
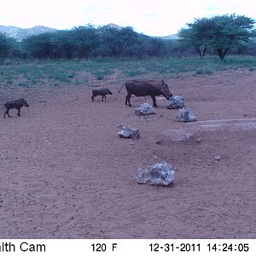
<path id="1" fill-rule="evenodd" d="M 97 58 L 82 61 L 23 61 L 19 64 L 0 64 L 0 86 L 17 84 L 20 87 L 52 84 L 88 84 L 91 80 L 108 79 L 113 73 L 119 80 L 179 78 L 183 73 L 201 75 L 228 69 L 256 69 L 256 58 L 246 55 L 227 55 L 186 58 L 110 59 Z"/>

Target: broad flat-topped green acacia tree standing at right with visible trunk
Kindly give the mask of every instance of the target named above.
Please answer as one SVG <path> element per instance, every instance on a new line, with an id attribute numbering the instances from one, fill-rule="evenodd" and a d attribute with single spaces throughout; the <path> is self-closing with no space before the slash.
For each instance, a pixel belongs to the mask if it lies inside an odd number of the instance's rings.
<path id="1" fill-rule="evenodd" d="M 207 47 L 211 47 L 223 61 L 230 49 L 255 37 L 254 23 L 253 19 L 244 15 L 218 15 L 209 19 L 196 19 L 194 23 L 187 24 L 188 28 L 181 29 L 178 35 L 198 49 L 204 46 L 204 52 Z"/>

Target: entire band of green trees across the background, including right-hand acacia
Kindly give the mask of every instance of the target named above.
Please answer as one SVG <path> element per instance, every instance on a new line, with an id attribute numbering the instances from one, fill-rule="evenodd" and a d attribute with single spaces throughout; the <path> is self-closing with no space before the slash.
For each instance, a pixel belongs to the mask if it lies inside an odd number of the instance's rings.
<path id="1" fill-rule="evenodd" d="M 137 33 L 131 26 L 78 26 L 33 35 L 18 42 L 0 34 L 0 57 L 40 59 L 88 59 L 90 57 L 204 56 L 228 51 L 256 55 L 254 20 L 245 16 L 223 15 L 195 19 L 178 33 L 182 39 L 163 39 Z M 193 46 L 193 48 L 191 47 Z"/>

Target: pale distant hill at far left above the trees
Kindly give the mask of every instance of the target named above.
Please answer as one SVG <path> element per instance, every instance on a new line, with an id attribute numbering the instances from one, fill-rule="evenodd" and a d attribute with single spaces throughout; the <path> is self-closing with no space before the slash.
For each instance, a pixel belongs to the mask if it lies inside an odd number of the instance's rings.
<path id="1" fill-rule="evenodd" d="M 17 41 L 21 41 L 29 36 L 38 35 L 45 32 L 56 32 L 55 28 L 48 26 L 33 26 L 31 28 L 20 28 L 17 26 L 1 26 L 0 32 L 3 32 L 9 38 L 15 38 Z"/>

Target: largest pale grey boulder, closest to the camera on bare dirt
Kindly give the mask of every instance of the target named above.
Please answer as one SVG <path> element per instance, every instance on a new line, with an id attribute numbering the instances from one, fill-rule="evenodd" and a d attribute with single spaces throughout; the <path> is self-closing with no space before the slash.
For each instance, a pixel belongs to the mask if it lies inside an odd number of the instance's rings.
<path id="1" fill-rule="evenodd" d="M 148 166 L 146 169 L 137 169 L 137 183 L 168 186 L 174 179 L 174 170 L 166 162 Z"/>

